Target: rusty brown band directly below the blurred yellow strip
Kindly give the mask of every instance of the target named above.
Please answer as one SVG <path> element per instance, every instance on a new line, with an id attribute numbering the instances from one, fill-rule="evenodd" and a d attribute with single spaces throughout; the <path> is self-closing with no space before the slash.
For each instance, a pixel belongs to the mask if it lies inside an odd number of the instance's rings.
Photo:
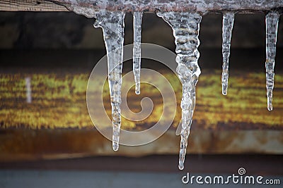
<path id="1" fill-rule="evenodd" d="M 147 156 L 177 154 L 180 138 L 169 130 L 143 146 L 112 150 L 110 141 L 93 129 L 0 130 L 0 161 L 35 161 L 86 156 Z M 192 131 L 187 153 L 282 154 L 283 132 L 272 130 Z M 190 156 L 190 155 L 189 155 Z"/>

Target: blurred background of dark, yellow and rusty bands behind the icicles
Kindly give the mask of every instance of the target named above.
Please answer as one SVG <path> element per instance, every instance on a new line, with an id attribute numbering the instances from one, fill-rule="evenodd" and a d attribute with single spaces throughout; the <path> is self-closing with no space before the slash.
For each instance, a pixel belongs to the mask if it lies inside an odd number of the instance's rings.
<path id="1" fill-rule="evenodd" d="M 182 87 L 178 77 L 160 63 L 141 61 L 143 68 L 168 78 L 178 100 L 173 125 L 162 137 L 144 146 L 120 146 L 114 152 L 111 142 L 93 126 L 86 108 L 86 85 L 91 70 L 106 54 L 102 30 L 94 28 L 93 22 L 71 12 L 0 12 L 0 187 L 210 187 L 183 184 L 182 177 L 186 173 L 231 175 L 241 167 L 248 175 L 282 183 L 281 20 L 273 111 L 269 112 L 264 13 L 236 14 L 227 96 L 221 94 L 222 17 L 217 13 L 203 16 L 202 74 L 183 171 L 178 170 L 180 137 L 175 135 Z M 141 35 L 141 42 L 175 50 L 171 27 L 154 13 L 144 13 Z M 132 14 L 127 13 L 125 44 L 132 42 Z M 131 62 L 123 66 L 123 73 L 132 68 Z M 108 93 L 105 89 L 103 99 L 109 113 Z M 159 95 L 141 84 L 141 95 L 136 96 L 133 87 L 129 108 L 141 111 L 137 101 L 148 96 L 154 111 L 141 122 L 122 120 L 122 128 L 139 131 L 154 125 L 160 117 L 158 107 L 163 105 Z"/>

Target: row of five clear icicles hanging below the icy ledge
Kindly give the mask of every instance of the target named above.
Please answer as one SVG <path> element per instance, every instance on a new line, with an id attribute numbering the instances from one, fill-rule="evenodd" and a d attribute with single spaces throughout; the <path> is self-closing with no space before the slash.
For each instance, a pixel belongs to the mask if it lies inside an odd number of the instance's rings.
<path id="1" fill-rule="evenodd" d="M 134 49 L 133 49 L 133 72 L 136 82 L 136 94 L 140 93 L 140 68 L 141 68 L 141 18 L 142 12 L 134 12 Z M 197 47 L 200 21 L 202 16 L 197 12 L 159 12 L 158 16 L 168 23 L 173 29 L 175 37 L 175 52 L 178 63 L 177 73 L 183 84 L 182 130 L 180 141 L 179 168 L 184 168 L 187 139 L 190 134 L 190 125 L 195 108 L 195 88 L 200 75 L 200 67 L 197 64 L 200 56 Z M 222 94 L 227 94 L 229 77 L 229 56 L 231 46 L 231 32 L 235 13 L 223 13 L 222 30 Z M 102 27 L 105 46 L 108 54 L 108 82 L 110 87 L 110 99 L 112 106 L 112 146 L 113 150 L 119 148 L 119 135 L 121 125 L 120 104 L 122 84 L 122 56 L 124 42 L 124 18 L 125 13 L 120 11 L 99 11 L 96 13 L 95 27 Z M 270 11 L 266 15 L 266 87 L 267 108 L 272 110 L 272 89 L 274 85 L 274 66 L 276 53 L 276 39 L 279 13 Z"/>

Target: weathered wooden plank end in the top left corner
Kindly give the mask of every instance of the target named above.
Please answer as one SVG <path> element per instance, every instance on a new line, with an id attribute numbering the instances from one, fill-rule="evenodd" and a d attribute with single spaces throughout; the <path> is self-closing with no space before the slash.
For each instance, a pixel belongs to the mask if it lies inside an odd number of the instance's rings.
<path id="1" fill-rule="evenodd" d="M 69 11 L 66 7 L 44 0 L 2 0 L 0 11 Z"/>

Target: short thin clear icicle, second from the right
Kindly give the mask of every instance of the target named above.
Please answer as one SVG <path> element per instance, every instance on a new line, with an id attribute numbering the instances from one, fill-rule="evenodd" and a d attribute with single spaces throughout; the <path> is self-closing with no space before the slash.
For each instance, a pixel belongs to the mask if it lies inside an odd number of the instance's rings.
<path id="1" fill-rule="evenodd" d="M 229 56 L 231 46 L 231 35 L 233 30 L 234 13 L 223 14 L 223 25 L 222 25 L 222 94 L 227 94 L 228 77 L 229 77 Z"/>

